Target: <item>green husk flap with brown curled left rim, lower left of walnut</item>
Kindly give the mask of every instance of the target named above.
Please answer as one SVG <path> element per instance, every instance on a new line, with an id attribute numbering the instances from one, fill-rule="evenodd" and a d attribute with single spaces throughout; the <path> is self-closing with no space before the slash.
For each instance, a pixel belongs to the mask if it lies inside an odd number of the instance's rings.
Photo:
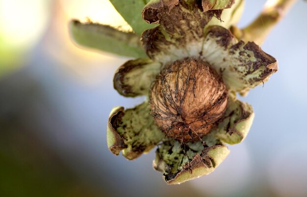
<path id="1" fill-rule="evenodd" d="M 164 134 L 153 122 L 148 102 L 133 109 L 114 108 L 107 125 L 107 145 L 109 150 L 129 160 L 150 151 L 163 138 Z"/>

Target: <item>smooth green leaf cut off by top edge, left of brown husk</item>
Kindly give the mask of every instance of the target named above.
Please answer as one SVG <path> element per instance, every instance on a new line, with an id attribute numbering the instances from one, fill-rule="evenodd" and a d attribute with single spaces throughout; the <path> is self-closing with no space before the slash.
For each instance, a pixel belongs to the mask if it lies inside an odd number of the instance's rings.
<path id="1" fill-rule="evenodd" d="M 122 15 L 133 31 L 141 35 L 148 28 L 153 28 L 142 19 L 142 9 L 149 0 L 110 0 L 115 9 Z"/>

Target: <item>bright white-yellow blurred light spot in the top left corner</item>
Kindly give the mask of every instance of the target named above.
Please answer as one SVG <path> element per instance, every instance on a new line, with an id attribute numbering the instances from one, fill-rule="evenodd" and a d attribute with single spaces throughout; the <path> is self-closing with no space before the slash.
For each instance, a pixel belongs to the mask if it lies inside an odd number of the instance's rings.
<path id="1" fill-rule="evenodd" d="M 1 45 L 24 48 L 34 45 L 47 26 L 48 0 L 0 0 Z"/>

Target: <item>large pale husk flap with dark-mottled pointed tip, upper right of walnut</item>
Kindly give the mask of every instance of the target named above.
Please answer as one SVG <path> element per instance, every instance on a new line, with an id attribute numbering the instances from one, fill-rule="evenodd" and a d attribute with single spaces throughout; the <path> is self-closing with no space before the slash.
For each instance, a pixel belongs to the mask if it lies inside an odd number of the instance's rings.
<path id="1" fill-rule="evenodd" d="M 245 94 L 278 70 L 277 60 L 254 42 L 238 41 L 220 26 L 207 28 L 201 58 L 223 78 L 230 91 Z"/>

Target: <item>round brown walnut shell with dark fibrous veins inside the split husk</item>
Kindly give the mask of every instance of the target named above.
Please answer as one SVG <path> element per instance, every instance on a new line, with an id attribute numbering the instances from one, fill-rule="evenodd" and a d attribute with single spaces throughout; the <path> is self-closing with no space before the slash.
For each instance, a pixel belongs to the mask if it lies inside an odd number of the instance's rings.
<path id="1" fill-rule="evenodd" d="M 169 138 L 199 141 L 226 111 L 222 78 L 200 59 L 186 58 L 164 67 L 150 93 L 155 123 Z"/>

